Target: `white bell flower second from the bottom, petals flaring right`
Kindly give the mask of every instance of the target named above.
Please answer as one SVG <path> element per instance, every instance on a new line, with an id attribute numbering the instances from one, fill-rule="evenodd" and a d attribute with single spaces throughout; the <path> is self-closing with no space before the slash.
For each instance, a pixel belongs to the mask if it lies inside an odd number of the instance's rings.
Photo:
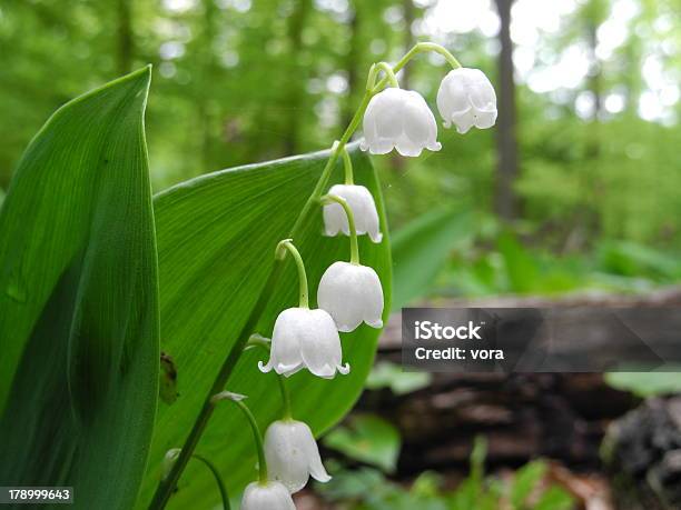
<path id="1" fill-rule="evenodd" d="M 303 489 L 310 474 L 320 482 L 330 480 L 315 437 L 302 421 L 273 422 L 265 432 L 265 457 L 269 477 L 284 483 L 292 493 Z"/>

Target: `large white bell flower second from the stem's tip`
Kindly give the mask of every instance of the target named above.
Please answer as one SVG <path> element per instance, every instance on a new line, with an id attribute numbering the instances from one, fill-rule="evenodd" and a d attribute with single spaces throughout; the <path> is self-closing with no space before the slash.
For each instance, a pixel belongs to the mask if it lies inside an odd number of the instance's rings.
<path id="1" fill-rule="evenodd" d="M 372 98 L 364 113 L 362 150 L 387 154 L 420 156 L 423 149 L 440 150 L 437 122 L 418 92 L 387 88 Z"/>

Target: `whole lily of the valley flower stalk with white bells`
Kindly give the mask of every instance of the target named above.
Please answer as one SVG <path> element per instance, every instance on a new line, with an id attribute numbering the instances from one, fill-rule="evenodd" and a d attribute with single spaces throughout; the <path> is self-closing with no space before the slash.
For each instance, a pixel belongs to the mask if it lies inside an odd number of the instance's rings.
<path id="1" fill-rule="evenodd" d="M 224 400 L 235 402 L 248 418 L 258 453 L 259 477 L 244 491 L 244 510 L 293 509 L 295 506 L 290 494 L 303 489 L 310 476 L 320 482 L 330 479 L 322 463 L 313 431 L 306 423 L 292 417 L 290 396 L 285 379 L 302 370 L 325 379 L 333 379 L 337 373 L 347 374 L 351 368 L 343 362 L 338 332 L 352 332 L 364 327 L 383 327 L 386 310 L 382 282 L 374 269 L 362 266 L 357 243 L 357 236 L 364 234 L 373 242 L 384 242 L 382 226 L 374 197 L 367 188 L 354 182 L 346 144 L 363 123 L 364 140 L 361 147 L 374 154 L 396 150 L 405 157 L 417 157 L 424 149 L 441 149 L 435 116 L 425 99 L 417 91 L 401 89 L 396 78 L 396 73 L 412 58 L 427 51 L 440 53 L 452 67 L 437 91 L 437 109 L 444 126 L 448 128 L 455 124 L 460 133 L 465 133 L 472 127 L 485 129 L 494 124 L 496 96 L 490 80 L 478 69 L 462 68 L 441 46 L 422 42 L 394 66 L 386 62 L 372 66 L 359 108 L 340 139 L 334 142 L 313 194 L 300 211 L 293 230 L 288 236 L 282 236 L 285 239 L 276 248 L 273 247 L 275 268 L 237 339 L 237 346 L 243 349 L 233 351 L 237 353 L 225 360 L 182 448 L 172 449 L 166 456 L 164 478 L 151 503 L 152 509 L 162 508 L 172 494 L 214 407 Z M 345 183 L 327 189 L 330 173 L 339 159 L 345 169 Z M 326 236 L 349 237 L 349 260 L 334 262 L 322 276 L 317 292 L 318 309 L 309 308 L 305 263 L 295 246 L 302 226 L 313 213 L 322 213 Z M 256 336 L 253 328 L 278 281 L 287 254 L 292 256 L 298 271 L 299 302 L 298 307 L 279 313 L 269 341 Z M 314 257 L 314 253 L 307 256 Z M 243 401 L 244 397 L 224 390 L 240 352 L 253 346 L 268 351 L 268 360 L 260 361 L 259 368 L 263 372 L 276 373 L 283 398 L 283 416 L 267 428 L 264 439 L 255 418 Z M 223 487 L 219 477 L 218 482 Z M 223 499 L 227 508 L 229 501 L 225 496 Z"/>

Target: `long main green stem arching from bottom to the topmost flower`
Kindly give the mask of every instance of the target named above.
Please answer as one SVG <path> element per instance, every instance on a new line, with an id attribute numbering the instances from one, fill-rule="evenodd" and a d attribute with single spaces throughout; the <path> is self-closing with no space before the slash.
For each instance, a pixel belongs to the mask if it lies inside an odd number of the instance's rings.
<path id="1" fill-rule="evenodd" d="M 393 73 L 396 73 L 397 71 L 399 71 L 402 68 L 404 68 L 404 66 L 406 66 L 406 63 L 415 54 L 421 53 L 423 51 L 437 51 L 438 53 L 445 56 L 445 58 L 452 64 L 452 67 L 454 68 L 461 67 L 458 61 L 454 57 L 452 57 L 451 53 L 446 51 L 444 48 L 438 47 L 437 44 L 420 42 L 414 48 L 412 48 L 409 52 L 406 53 L 393 67 Z M 387 78 L 383 78 L 383 80 L 381 80 L 381 82 L 377 86 L 378 90 L 385 87 L 387 82 L 388 82 Z M 335 144 L 334 149 L 330 150 L 329 158 L 326 161 L 326 166 L 324 167 L 324 170 L 322 170 L 322 174 L 319 176 L 319 180 L 317 181 L 315 189 L 313 190 L 312 194 L 307 199 L 307 202 L 305 202 L 305 204 L 303 206 L 303 209 L 300 210 L 298 218 L 296 219 L 293 228 L 289 231 L 288 237 L 290 239 L 295 240 L 296 238 L 298 238 L 298 236 L 300 234 L 303 230 L 303 227 L 305 226 L 305 222 L 308 221 L 309 219 L 313 208 L 316 204 L 318 204 L 319 198 L 322 197 L 322 194 L 328 187 L 328 180 L 330 179 L 330 174 L 334 168 L 336 168 L 336 162 L 338 161 L 338 154 L 343 150 L 345 150 L 345 146 L 349 141 L 353 133 L 359 127 L 359 123 L 362 122 L 362 119 L 364 117 L 364 112 L 366 111 L 366 107 L 368 106 L 374 94 L 377 92 L 377 91 L 376 92 L 374 91 L 375 89 L 376 88 L 372 88 L 364 92 L 362 101 L 359 102 L 359 107 L 355 111 L 353 119 L 351 120 L 349 124 L 343 132 L 343 136 L 340 137 L 340 140 L 338 141 L 338 143 Z M 231 376 L 231 372 L 234 371 L 234 368 L 236 367 L 237 361 L 239 360 L 241 356 L 241 352 L 244 350 L 244 347 L 246 346 L 246 342 L 250 338 L 250 334 L 253 333 L 253 331 L 255 331 L 260 320 L 260 316 L 265 311 L 265 308 L 267 307 L 267 303 L 269 302 L 269 298 L 274 293 L 274 289 L 276 288 L 276 284 L 279 281 L 279 278 L 282 278 L 282 273 L 284 272 L 284 262 L 285 260 L 283 259 L 275 260 L 274 267 L 272 271 L 269 272 L 269 277 L 267 278 L 267 281 L 265 282 L 265 284 L 261 287 L 258 299 L 255 306 L 253 307 L 253 309 L 250 310 L 250 314 L 248 316 L 248 319 L 246 319 L 246 322 L 244 323 L 244 327 L 241 328 L 241 331 L 239 332 L 237 337 L 237 341 L 235 343 L 234 349 L 231 349 L 231 351 L 229 352 L 229 354 L 223 362 L 223 366 L 220 367 L 220 370 L 215 378 L 213 387 L 210 388 L 210 391 L 208 391 L 206 396 L 204 406 L 200 412 L 198 413 L 196 421 L 194 422 L 194 426 L 191 427 L 191 431 L 189 432 L 189 436 L 187 436 L 187 439 L 185 440 L 185 444 L 182 446 L 182 449 L 180 451 L 180 454 L 177 461 L 172 466 L 172 470 L 170 471 L 168 477 L 156 489 L 156 493 L 154 494 L 154 499 L 151 500 L 151 504 L 149 506 L 150 510 L 162 509 L 168 503 L 170 496 L 172 496 L 175 487 L 177 486 L 177 481 L 179 480 L 185 468 L 187 467 L 187 462 L 191 458 L 191 454 L 194 453 L 194 450 L 196 449 L 196 446 L 198 444 L 199 439 L 201 438 L 201 434 L 204 433 L 204 430 L 206 429 L 206 426 L 208 421 L 210 420 L 210 417 L 213 416 L 214 406 L 211 404 L 210 399 L 214 394 L 221 391 L 223 388 L 225 388 L 225 386 L 227 384 L 227 381 L 229 380 L 229 377 Z"/>

